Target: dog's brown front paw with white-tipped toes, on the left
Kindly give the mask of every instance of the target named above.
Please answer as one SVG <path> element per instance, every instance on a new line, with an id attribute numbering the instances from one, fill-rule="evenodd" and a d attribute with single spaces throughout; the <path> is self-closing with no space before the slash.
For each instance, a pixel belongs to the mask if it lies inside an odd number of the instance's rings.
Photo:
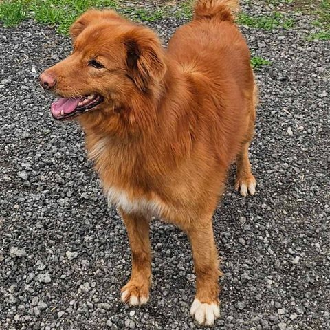
<path id="1" fill-rule="evenodd" d="M 122 303 L 130 306 L 141 306 L 149 300 L 149 288 L 148 285 L 137 285 L 133 281 L 129 281 L 124 287 L 122 287 Z"/>

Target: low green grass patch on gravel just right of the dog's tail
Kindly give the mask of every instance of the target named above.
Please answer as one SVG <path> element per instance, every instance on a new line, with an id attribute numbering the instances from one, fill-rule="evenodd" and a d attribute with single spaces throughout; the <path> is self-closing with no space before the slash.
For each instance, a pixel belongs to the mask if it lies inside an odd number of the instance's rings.
<path id="1" fill-rule="evenodd" d="M 252 17 L 241 12 L 236 19 L 236 23 L 248 26 L 249 28 L 264 30 L 273 30 L 276 28 L 290 29 L 294 26 L 294 20 L 285 18 L 281 12 L 273 12 L 270 15 L 259 17 Z"/>

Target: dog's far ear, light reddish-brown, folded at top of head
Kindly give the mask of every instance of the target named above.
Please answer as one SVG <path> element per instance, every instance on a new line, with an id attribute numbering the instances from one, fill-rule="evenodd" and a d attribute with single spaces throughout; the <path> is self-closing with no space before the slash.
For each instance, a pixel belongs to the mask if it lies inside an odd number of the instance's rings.
<path id="1" fill-rule="evenodd" d="M 87 28 L 87 26 L 93 23 L 100 23 L 102 20 L 117 20 L 126 21 L 114 10 L 87 10 L 81 15 L 70 28 L 70 35 L 72 40 L 75 41 L 77 36 Z"/>

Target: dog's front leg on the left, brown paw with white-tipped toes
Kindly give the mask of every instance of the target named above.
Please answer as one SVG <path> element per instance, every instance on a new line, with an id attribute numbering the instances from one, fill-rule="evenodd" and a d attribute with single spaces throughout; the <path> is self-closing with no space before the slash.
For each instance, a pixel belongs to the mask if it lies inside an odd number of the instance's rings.
<path id="1" fill-rule="evenodd" d="M 151 285 L 149 221 L 141 215 L 122 211 L 120 213 L 126 225 L 132 252 L 131 279 L 122 287 L 122 302 L 131 306 L 143 305 L 149 299 Z"/>

